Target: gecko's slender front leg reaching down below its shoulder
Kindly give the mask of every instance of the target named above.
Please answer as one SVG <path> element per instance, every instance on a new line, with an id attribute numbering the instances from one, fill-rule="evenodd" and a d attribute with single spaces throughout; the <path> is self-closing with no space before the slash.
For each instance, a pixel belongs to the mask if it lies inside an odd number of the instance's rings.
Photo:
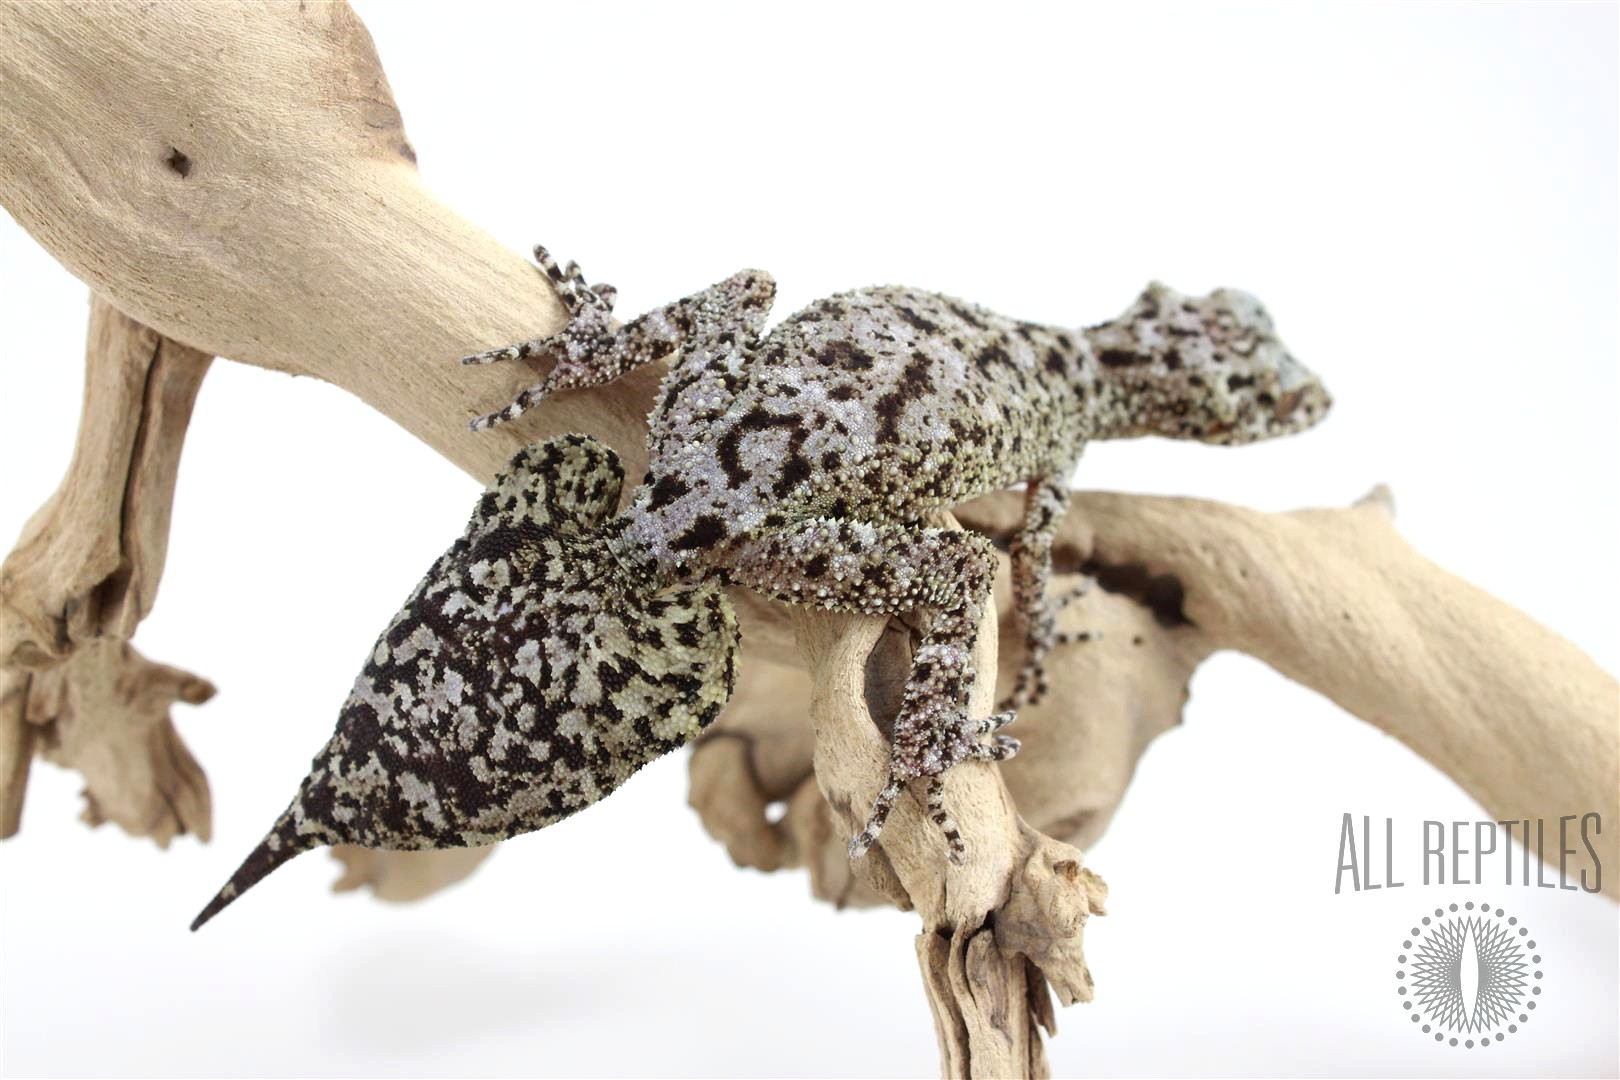
<path id="1" fill-rule="evenodd" d="M 1069 508 L 1069 484 L 1063 473 L 1032 479 L 1024 487 L 1024 521 L 1013 536 L 1013 609 L 1024 635 L 1024 661 L 1003 709 L 1035 704 L 1047 696 L 1047 656 L 1058 644 L 1090 641 L 1094 633 L 1059 633 L 1058 612 L 1085 594 L 1090 585 L 1047 599 L 1051 585 L 1051 542 L 1058 521 Z"/>

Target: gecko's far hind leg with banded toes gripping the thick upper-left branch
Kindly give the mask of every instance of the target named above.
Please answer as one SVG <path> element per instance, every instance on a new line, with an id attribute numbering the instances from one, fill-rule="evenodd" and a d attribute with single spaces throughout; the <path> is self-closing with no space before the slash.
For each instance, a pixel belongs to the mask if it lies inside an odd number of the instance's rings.
<path id="1" fill-rule="evenodd" d="M 528 356 L 549 356 L 556 363 L 544 379 L 518 393 L 510 405 L 471 421 L 468 426 L 473 431 L 517 419 L 557 390 L 612 382 L 693 340 L 716 340 L 729 330 L 748 338 L 739 343 L 750 345 L 765 325 L 776 295 L 776 283 L 768 274 L 742 270 L 701 293 L 654 308 L 614 329 L 612 303 L 617 293 L 611 285 L 586 285 L 577 264 L 559 269 L 544 248 L 535 248 L 535 259 L 567 309 L 569 325 L 551 337 L 463 356 L 462 363 L 491 364 Z"/>

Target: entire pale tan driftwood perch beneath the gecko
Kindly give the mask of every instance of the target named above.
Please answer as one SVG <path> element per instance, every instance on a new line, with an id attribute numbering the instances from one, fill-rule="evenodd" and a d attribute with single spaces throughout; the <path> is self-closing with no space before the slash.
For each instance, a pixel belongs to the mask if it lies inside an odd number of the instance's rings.
<path id="1" fill-rule="evenodd" d="M 207 836 L 207 785 L 168 706 L 212 688 L 128 640 L 156 591 L 211 356 L 340 385 L 480 479 L 564 431 L 612 445 L 632 481 L 645 466 L 658 366 L 465 429 L 535 372 L 450 361 L 556 330 L 562 311 L 522 256 L 421 185 L 343 5 L 0 5 L 0 204 L 97 295 L 75 463 L 0 567 L 0 826 L 15 829 L 26 763 L 44 753 L 84 772 L 89 819 L 159 842 Z M 957 510 L 990 534 L 1014 513 L 1014 497 Z M 808 866 L 818 895 L 919 912 L 951 1075 L 1043 1072 L 1045 983 L 1064 1002 L 1090 994 L 1081 931 L 1103 900 L 1069 845 L 1106 826 L 1213 649 L 1319 688 L 1494 814 L 1615 813 L 1614 678 L 1422 560 L 1375 504 L 1260 515 L 1081 494 L 1059 559 L 1108 586 L 1064 614 L 1105 638 L 1056 657 L 1017 758 L 953 774 L 967 868 L 938 858 L 915 806 L 872 858 L 852 866 L 841 850 L 881 782 L 880 727 L 909 649 L 897 627 L 737 594 L 744 685 L 692 759 L 693 805 L 739 863 Z M 1000 599 L 1004 612 L 1004 585 Z M 980 698 L 995 646 L 983 635 Z M 1004 649 L 1001 670 L 1014 659 Z M 340 884 L 424 895 L 488 850 L 347 850 Z"/>

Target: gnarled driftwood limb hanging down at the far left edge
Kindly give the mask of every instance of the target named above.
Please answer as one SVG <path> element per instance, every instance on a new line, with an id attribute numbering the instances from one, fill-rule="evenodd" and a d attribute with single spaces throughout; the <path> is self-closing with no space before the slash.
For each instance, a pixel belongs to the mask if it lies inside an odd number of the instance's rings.
<path id="1" fill-rule="evenodd" d="M 168 706 L 214 688 L 128 640 L 157 594 L 180 445 L 212 358 L 100 300 L 84 358 L 73 463 L 0 563 L 0 836 L 18 829 L 39 751 L 84 776 L 92 824 L 162 845 L 207 839 L 207 780 Z"/>

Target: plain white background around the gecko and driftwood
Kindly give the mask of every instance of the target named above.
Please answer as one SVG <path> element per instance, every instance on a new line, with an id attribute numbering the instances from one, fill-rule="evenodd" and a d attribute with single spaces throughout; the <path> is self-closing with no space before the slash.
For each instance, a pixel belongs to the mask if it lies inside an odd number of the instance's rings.
<path id="1" fill-rule="evenodd" d="M 782 314 L 873 282 L 1071 325 L 1153 277 L 1257 293 L 1330 421 L 1098 445 L 1079 483 L 1281 510 L 1388 481 L 1419 551 L 1615 669 L 1614 6 L 358 10 L 429 185 L 624 313 L 742 266 Z M 68 461 L 86 290 L 10 220 L 0 269 L 10 538 Z M 330 899 L 306 857 L 186 933 L 475 491 L 339 390 L 215 366 L 138 638 L 220 687 L 178 716 L 215 842 L 89 832 L 76 779 L 36 767 L 0 850 L 6 1072 L 935 1072 L 915 918 L 734 870 L 682 758 L 426 904 Z M 1111 913 L 1056 1074 L 1615 1074 L 1612 904 L 1333 895 L 1340 814 L 1484 813 L 1246 657 L 1200 669 L 1186 716 L 1087 853 Z M 1547 954 L 1536 1020 L 1484 1054 L 1426 1043 L 1392 991 L 1403 928 L 1463 892 Z"/>

